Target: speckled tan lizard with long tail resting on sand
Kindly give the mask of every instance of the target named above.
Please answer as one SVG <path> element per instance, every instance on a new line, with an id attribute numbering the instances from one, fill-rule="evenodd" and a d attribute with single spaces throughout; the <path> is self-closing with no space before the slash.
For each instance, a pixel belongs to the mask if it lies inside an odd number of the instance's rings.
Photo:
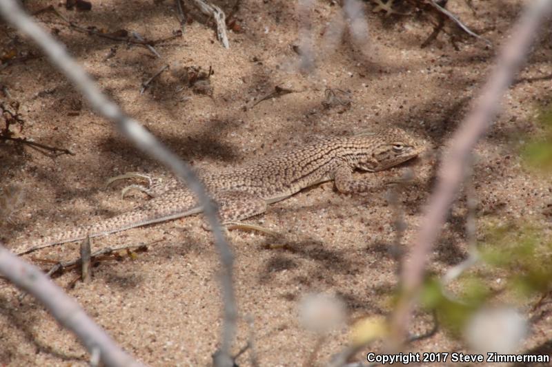
<path id="1" fill-rule="evenodd" d="M 322 182 L 333 180 L 341 193 L 369 191 L 373 185 L 368 180 L 355 180 L 355 170 L 375 172 L 389 169 L 418 156 L 424 151 L 424 145 L 423 140 L 392 127 L 372 133 L 321 138 L 241 167 L 202 173 L 199 178 L 217 203 L 221 222 L 228 224 L 262 214 L 269 204 Z M 152 198 L 126 213 L 61 231 L 22 244 L 12 251 L 24 255 L 86 237 L 109 235 L 202 211 L 195 195 L 177 178 L 163 183 L 143 174 L 126 174 L 109 182 L 122 178 L 147 178 L 148 186 L 130 185 L 124 189 L 123 195 L 128 189 L 140 189 Z"/>

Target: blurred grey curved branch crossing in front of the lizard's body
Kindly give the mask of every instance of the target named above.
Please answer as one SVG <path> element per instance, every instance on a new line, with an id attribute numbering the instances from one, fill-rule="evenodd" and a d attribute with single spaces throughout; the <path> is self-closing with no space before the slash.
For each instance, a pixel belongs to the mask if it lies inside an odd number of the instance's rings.
<path id="1" fill-rule="evenodd" d="M 59 68 L 63 74 L 85 96 L 93 109 L 99 114 L 112 120 L 117 128 L 132 143 L 152 158 L 159 160 L 168 167 L 177 178 L 180 178 L 197 196 L 197 200 L 204 209 L 204 215 L 208 219 L 213 231 L 215 244 L 221 259 L 221 292 L 224 305 L 224 319 L 221 333 L 221 355 L 224 358 L 217 366 L 232 366 L 230 346 L 233 343 L 236 332 L 237 307 L 233 287 L 233 262 L 234 257 L 228 242 L 221 229 L 217 216 L 217 209 L 213 201 L 207 195 L 204 185 L 199 181 L 192 169 L 178 156 L 169 151 L 164 145 L 141 126 L 137 120 L 130 118 L 121 111 L 119 106 L 110 101 L 100 92 L 90 76 L 84 72 L 77 61 L 72 59 L 66 48 L 45 32 L 31 17 L 25 14 L 14 0 L 0 1 L 0 11 L 4 19 L 17 27 L 21 32 L 32 38 L 48 55 L 53 65 Z"/>

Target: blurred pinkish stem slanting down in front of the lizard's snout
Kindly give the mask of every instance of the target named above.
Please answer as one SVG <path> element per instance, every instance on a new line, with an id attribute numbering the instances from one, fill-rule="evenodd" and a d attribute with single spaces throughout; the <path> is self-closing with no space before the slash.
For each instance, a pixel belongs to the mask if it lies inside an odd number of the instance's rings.
<path id="1" fill-rule="evenodd" d="M 526 58 L 539 26 L 551 12 L 552 1 L 550 0 L 535 0 L 526 8 L 513 29 L 511 39 L 500 52 L 497 65 L 475 101 L 474 107 L 453 136 L 452 141 L 455 143 L 442 163 L 440 180 L 424 211 L 424 220 L 411 246 L 411 255 L 404 261 L 401 279 L 402 297 L 395 308 L 392 319 L 392 339 L 389 340 L 395 348 L 399 348 L 404 341 L 417 291 L 424 279 L 425 264 L 430 258 L 431 247 L 437 240 L 446 213 L 464 178 L 471 149 L 491 126 L 492 119 L 498 112 L 502 95 Z"/>

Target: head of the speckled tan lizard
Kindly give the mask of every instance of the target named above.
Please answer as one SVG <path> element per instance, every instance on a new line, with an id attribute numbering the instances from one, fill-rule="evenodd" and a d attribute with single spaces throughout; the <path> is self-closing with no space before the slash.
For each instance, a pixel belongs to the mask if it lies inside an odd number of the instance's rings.
<path id="1" fill-rule="evenodd" d="M 425 150 L 424 140 L 415 138 L 397 127 L 380 132 L 359 134 L 366 154 L 359 155 L 355 167 L 362 171 L 382 171 L 418 156 Z"/>

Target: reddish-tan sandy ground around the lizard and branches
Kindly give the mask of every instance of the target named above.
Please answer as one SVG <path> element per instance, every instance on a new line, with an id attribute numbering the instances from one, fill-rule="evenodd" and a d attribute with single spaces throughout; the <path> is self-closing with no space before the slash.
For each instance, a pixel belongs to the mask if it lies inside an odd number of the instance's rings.
<path id="1" fill-rule="evenodd" d="M 500 45 L 524 1 L 474 0 L 475 15 L 462 1 L 449 3 L 476 32 Z M 48 5 L 50 1 L 28 2 L 32 11 Z M 229 11 L 233 4 L 221 5 Z M 179 28 L 171 1 L 93 1 L 89 12 L 54 6 L 79 25 L 95 25 L 104 32 L 135 30 L 147 39 L 161 39 Z M 310 14 L 316 50 L 324 50 L 326 28 L 339 9 L 331 1 L 315 2 Z M 424 14 L 384 17 L 368 10 L 372 40 L 368 61 L 351 37 L 345 36 L 336 48 L 330 48 L 335 52 L 318 53 L 310 74 L 299 74 L 293 69 L 297 63 L 293 46 L 299 43 L 295 1 L 241 1 L 234 31 L 229 33 L 229 50 L 216 41 L 211 23 L 195 17 L 183 36 L 156 47 L 160 59 L 137 45 L 70 30 L 52 14 L 37 17 L 128 114 L 195 167 L 232 167 L 313 136 L 374 127 L 400 126 L 424 138 L 435 154 L 408 164 L 415 180 L 399 190 L 408 224 L 402 240 L 405 250 L 433 188 L 442 147 L 489 74 L 496 50 L 462 35 L 454 46 L 446 34 L 422 49 L 420 45 L 433 29 Z M 538 134 L 538 107 L 551 101 L 550 29 L 506 94 L 490 134 L 477 145 L 474 177 L 480 223 L 523 218 L 550 227 L 551 219 L 543 210 L 552 202 L 552 184 L 524 169 L 519 158 L 526 136 Z M 39 54 L 5 25 L 0 25 L 0 42 L 4 52 L 15 48 Z M 112 48 L 115 54 L 110 55 Z M 141 83 L 167 64 L 170 71 L 140 95 Z M 213 68 L 212 96 L 197 94 L 180 81 L 183 68 L 190 66 Z M 21 104 L 25 129 L 20 136 L 75 152 L 74 156 L 50 158 L 14 143 L 0 145 L 1 186 L 17 185 L 25 194 L 11 222 L 0 228 L 0 239 L 8 247 L 52 229 L 108 218 L 147 200 L 139 193 L 121 200 L 122 185 L 105 189 L 104 184 L 126 171 L 160 174 L 163 169 L 137 153 L 108 121 L 93 113 L 46 59 L 6 67 L 0 71 L 0 84 Z M 181 85 L 184 90 L 177 92 Z M 275 86 L 295 92 L 244 109 Z M 348 91 L 351 107 L 324 108 L 326 88 Z M 1 92 L 0 96 L 5 98 Z M 230 232 L 239 313 L 252 320 L 261 366 L 298 366 L 309 358 L 316 338 L 298 319 L 299 300 L 308 293 L 337 295 L 351 320 L 391 310 L 389 300 L 397 282 L 397 261 L 391 251 L 395 209 L 388 204 L 388 187 L 383 182 L 401 172 L 402 167 L 358 174 L 374 182 L 366 196 L 342 195 L 332 183 L 319 185 L 270 206 L 265 216 L 250 221 L 280 231 L 279 240 L 259 233 Z M 442 273 L 466 258 L 465 215 L 466 200 L 461 196 L 433 251 L 431 271 Z M 217 348 L 219 259 L 210 233 L 201 227 L 202 220 L 195 216 L 96 240 L 95 248 L 155 244 L 135 260 L 101 263 L 90 284 L 77 282 L 68 289 L 121 346 L 152 366 L 206 366 Z M 271 248 L 274 243 L 285 246 Z M 66 244 L 34 255 L 70 260 L 77 254 L 75 244 Z M 68 272 L 55 282 L 67 287 L 76 274 Z M 88 354 L 75 337 L 32 297 L 19 300 L 18 295 L 19 291 L 3 283 L 0 365 L 85 366 Z M 550 311 L 545 304 L 522 350 L 551 353 Z M 417 316 L 413 332 L 430 329 L 428 320 Z M 240 320 L 235 351 L 250 339 L 250 324 Z M 343 326 L 326 339 L 313 362 L 324 364 L 347 342 L 348 326 Z M 357 358 L 364 359 L 378 348 L 379 344 L 366 347 Z M 410 348 L 420 353 L 466 350 L 442 330 Z M 250 353 L 244 353 L 237 363 L 250 365 Z"/>

